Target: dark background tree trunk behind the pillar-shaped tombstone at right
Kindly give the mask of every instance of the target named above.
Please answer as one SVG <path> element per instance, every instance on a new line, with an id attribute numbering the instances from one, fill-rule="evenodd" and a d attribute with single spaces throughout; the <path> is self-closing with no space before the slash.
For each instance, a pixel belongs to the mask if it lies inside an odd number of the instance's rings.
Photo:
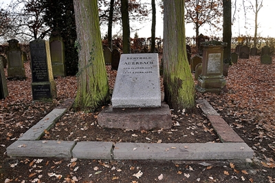
<path id="1" fill-rule="evenodd" d="M 231 0 L 223 0 L 223 42 L 228 43 L 223 50 L 223 61 L 231 64 Z"/>

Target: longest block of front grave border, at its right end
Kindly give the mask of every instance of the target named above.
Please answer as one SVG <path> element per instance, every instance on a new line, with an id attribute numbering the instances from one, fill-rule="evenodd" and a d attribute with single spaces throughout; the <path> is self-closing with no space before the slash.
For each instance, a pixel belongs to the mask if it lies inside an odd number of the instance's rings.
<path id="1" fill-rule="evenodd" d="M 120 142 L 114 160 L 236 160 L 253 158 L 254 151 L 241 142 L 157 144 Z"/>

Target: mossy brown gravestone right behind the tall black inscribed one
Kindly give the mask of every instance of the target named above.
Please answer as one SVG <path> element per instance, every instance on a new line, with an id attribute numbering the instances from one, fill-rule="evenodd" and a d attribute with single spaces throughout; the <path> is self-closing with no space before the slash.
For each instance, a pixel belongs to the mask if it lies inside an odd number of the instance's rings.
<path id="1" fill-rule="evenodd" d="M 50 52 L 52 61 L 52 74 L 54 74 L 54 76 L 66 76 L 65 49 L 61 36 L 50 37 Z"/>

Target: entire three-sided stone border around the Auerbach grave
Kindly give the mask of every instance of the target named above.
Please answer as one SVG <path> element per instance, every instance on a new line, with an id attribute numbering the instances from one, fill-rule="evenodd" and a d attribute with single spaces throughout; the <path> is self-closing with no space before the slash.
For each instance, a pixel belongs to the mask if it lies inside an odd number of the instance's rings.
<path id="1" fill-rule="evenodd" d="M 130 143 L 40 140 L 72 107 L 67 99 L 7 147 L 11 157 L 55 157 L 101 160 L 236 160 L 251 163 L 254 151 L 219 116 L 207 100 L 196 100 L 221 143 Z"/>

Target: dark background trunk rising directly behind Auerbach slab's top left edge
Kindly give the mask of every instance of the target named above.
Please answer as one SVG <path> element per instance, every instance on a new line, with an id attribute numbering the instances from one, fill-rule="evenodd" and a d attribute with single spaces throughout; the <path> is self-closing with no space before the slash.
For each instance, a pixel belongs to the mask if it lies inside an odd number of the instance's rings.
<path id="1" fill-rule="evenodd" d="M 128 0 L 121 0 L 121 14 L 122 14 L 122 50 L 124 54 L 131 54 L 130 46 L 130 23 L 129 23 L 129 11 Z"/>

